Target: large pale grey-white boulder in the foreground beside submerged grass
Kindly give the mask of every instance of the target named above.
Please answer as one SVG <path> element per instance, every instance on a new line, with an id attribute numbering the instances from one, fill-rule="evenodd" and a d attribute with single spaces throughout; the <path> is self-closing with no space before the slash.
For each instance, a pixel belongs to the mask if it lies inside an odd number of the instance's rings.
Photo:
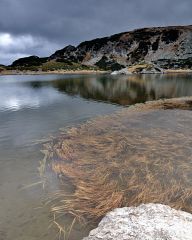
<path id="1" fill-rule="evenodd" d="M 84 240 L 192 240 L 192 214 L 161 204 L 108 213 Z"/>

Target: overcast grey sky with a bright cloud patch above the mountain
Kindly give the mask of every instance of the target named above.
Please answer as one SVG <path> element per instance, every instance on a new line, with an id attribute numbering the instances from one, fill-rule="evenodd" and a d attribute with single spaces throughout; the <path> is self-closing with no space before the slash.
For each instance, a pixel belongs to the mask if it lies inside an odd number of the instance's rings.
<path id="1" fill-rule="evenodd" d="M 0 0 L 0 63 L 141 27 L 192 24 L 192 0 Z"/>

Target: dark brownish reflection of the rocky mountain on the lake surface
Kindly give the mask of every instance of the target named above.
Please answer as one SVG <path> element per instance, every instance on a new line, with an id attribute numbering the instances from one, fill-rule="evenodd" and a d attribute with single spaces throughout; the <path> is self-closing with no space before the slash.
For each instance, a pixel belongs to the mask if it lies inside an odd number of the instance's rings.
<path id="1" fill-rule="evenodd" d="M 191 75 L 106 75 L 55 81 L 53 86 L 86 99 L 130 105 L 160 98 L 190 96 L 191 80 Z"/>

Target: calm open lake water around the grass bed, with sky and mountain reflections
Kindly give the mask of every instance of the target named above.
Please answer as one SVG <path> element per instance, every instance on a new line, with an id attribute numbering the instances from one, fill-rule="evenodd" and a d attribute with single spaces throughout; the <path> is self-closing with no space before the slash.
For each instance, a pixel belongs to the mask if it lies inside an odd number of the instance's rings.
<path id="1" fill-rule="evenodd" d="M 23 188 L 40 181 L 34 142 L 128 105 L 182 96 L 192 96 L 190 74 L 0 76 L 0 240 L 56 237 L 47 191 Z"/>

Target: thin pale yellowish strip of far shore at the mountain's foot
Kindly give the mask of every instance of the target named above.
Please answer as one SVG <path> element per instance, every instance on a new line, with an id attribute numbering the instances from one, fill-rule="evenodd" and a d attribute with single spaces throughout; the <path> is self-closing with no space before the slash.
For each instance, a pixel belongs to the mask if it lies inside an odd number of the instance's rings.
<path id="1" fill-rule="evenodd" d="M 102 70 L 54 70 L 54 71 L 18 71 L 18 70 L 4 70 L 0 72 L 0 76 L 3 75 L 47 75 L 47 74 L 106 74 L 111 71 Z M 192 73 L 192 69 L 166 69 L 160 74 L 186 74 Z M 134 74 L 134 73 L 133 73 Z M 144 73 L 143 73 L 144 74 Z M 151 73 L 155 74 L 155 73 Z"/>

